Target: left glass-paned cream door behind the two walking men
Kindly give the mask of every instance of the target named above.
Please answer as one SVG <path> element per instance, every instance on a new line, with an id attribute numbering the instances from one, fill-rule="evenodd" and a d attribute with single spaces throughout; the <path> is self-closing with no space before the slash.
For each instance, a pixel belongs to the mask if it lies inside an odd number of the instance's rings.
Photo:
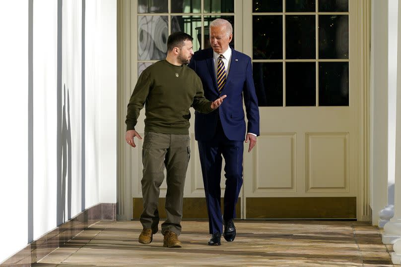
<path id="1" fill-rule="evenodd" d="M 135 1 L 134 1 L 135 2 Z M 194 51 L 210 47 L 209 24 L 216 18 L 224 18 L 233 25 L 233 48 L 242 48 L 242 0 L 138 0 L 136 2 L 132 19 L 136 20 L 136 30 L 132 42 L 137 46 L 137 53 L 133 54 L 132 62 L 137 66 L 133 73 L 136 82 L 140 73 L 148 66 L 162 60 L 167 55 L 167 38 L 171 33 L 183 31 L 193 38 Z M 238 15 L 238 12 L 240 14 Z M 198 144 L 194 133 L 194 110 L 191 108 L 191 161 L 187 171 L 184 189 L 184 218 L 207 218 L 206 203 L 204 200 L 203 181 L 199 160 Z M 138 118 L 137 131 L 143 134 L 144 112 Z M 138 147 L 141 147 L 139 140 Z M 137 218 L 142 211 L 140 179 L 142 177 L 142 164 L 140 149 L 135 150 L 138 159 L 132 167 L 132 196 L 133 217 Z M 224 164 L 224 162 L 223 162 Z M 224 169 L 224 167 L 222 168 Z M 221 195 L 224 196 L 225 179 L 222 173 Z M 161 185 L 160 210 L 163 216 L 163 198 L 166 194 L 166 181 Z M 241 197 L 241 196 L 240 196 Z M 241 212 L 241 202 L 237 207 L 237 214 Z"/>

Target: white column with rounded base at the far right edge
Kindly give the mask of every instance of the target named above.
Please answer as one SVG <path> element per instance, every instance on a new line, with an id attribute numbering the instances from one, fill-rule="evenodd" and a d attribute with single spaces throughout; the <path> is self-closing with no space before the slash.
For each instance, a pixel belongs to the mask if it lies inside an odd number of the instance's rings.
<path id="1" fill-rule="evenodd" d="M 401 5 L 398 6 L 398 32 L 401 31 Z M 398 35 L 397 65 L 401 65 L 401 34 Z M 396 100 L 396 165 L 395 165 L 395 215 L 384 225 L 382 241 L 384 244 L 394 244 L 393 262 L 400 264 L 401 243 L 401 67 L 397 68 L 397 100 Z"/>

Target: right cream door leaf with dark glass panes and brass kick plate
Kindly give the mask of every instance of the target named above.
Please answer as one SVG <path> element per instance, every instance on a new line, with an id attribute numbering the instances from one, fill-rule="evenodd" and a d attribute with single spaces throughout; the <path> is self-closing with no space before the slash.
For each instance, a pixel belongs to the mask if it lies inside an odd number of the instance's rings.
<path id="1" fill-rule="evenodd" d="M 356 218 L 358 2 L 244 0 L 261 115 L 246 218 Z"/>

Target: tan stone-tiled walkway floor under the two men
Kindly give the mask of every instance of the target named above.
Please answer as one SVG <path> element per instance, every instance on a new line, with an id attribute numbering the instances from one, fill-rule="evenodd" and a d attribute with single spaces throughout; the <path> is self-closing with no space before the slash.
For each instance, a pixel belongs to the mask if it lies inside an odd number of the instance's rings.
<path id="1" fill-rule="evenodd" d="M 234 242 L 207 246 L 206 220 L 184 220 L 182 248 L 137 242 L 139 221 L 98 222 L 34 266 L 393 266 L 377 227 L 356 221 L 236 220 Z"/>

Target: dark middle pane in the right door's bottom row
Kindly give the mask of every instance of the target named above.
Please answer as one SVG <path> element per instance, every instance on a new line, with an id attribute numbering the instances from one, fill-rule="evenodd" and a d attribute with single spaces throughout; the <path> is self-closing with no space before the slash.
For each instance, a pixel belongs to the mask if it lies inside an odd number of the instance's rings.
<path id="1" fill-rule="evenodd" d="M 285 105 L 316 106 L 316 63 L 285 63 Z"/>

